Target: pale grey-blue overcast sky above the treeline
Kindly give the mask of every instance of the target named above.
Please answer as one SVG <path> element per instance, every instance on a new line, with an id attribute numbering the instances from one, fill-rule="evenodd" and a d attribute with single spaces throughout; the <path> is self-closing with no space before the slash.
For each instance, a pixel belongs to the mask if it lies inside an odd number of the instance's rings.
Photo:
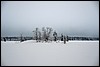
<path id="1" fill-rule="evenodd" d="M 2 1 L 1 36 L 32 36 L 36 28 L 58 34 L 99 36 L 98 1 Z"/>

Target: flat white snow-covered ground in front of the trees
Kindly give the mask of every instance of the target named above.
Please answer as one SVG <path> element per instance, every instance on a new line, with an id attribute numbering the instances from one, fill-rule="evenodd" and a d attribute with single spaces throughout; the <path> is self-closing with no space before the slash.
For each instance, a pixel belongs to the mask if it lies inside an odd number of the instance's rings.
<path id="1" fill-rule="evenodd" d="M 99 41 L 1 41 L 2 66 L 99 66 Z"/>

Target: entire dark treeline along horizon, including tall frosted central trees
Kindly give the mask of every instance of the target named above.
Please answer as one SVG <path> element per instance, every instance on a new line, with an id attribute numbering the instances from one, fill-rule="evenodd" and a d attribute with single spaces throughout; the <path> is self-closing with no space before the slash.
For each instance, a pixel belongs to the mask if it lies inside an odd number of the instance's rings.
<path id="1" fill-rule="evenodd" d="M 56 31 L 53 31 L 51 27 L 42 27 L 41 29 L 35 28 L 32 37 L 24 37 L 20 34 L 20 37 L 1 37 L 1 41 L 26 41 L 36 40 L 36 42 L 48 42 L 48 41 L 69 41 L 69 40 L 99 40 L 98 37 L 72 37 L 61 34 L 58 36 Z"/>

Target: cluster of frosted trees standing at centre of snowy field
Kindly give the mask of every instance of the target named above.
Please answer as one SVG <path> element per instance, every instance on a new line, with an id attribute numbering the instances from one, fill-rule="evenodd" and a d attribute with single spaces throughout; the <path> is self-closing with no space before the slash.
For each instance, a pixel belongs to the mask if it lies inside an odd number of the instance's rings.
<path id="1" fill-rule="evenodd" d="M 59 40 L 58 39 L 58 34 L 56 31 L 53 31 L 52 28 L 50 27 L 43 27 L 41 30 L 39 28 L 36 28 L 34 31 L 34 36 L 33 38 L 35 38 L 35 40 L 37 42 L 40 42 L 40 41 L 45 41 L 45 42 L 48 42 L 48 41 L 57 41 Z M 61 35 L 61 41 L 66 41 L 66 37 Z M 68 41 L 68 36 L 67 36 L 67 41 Z"/>

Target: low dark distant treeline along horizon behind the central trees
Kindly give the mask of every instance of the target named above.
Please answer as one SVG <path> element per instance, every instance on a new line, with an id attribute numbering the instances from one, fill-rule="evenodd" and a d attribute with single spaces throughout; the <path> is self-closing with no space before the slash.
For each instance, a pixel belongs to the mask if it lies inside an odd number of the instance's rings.
<path id="1" fill-rule="evenodd" d="M 20 41 L 21 37 L 1 37 L 1 41 L 4 41 L 4 38 L 7 41 Z M 52 41 L 53 41 L 53 37 L 52 37 Z M 68 37 L 69 40 L 99 40 L 98 37 Z M 36 40 L 35 37 L 22 37 L 22 40 Z M 58 37 L 57 40 L 63 41 L 62 37 Z"/>

